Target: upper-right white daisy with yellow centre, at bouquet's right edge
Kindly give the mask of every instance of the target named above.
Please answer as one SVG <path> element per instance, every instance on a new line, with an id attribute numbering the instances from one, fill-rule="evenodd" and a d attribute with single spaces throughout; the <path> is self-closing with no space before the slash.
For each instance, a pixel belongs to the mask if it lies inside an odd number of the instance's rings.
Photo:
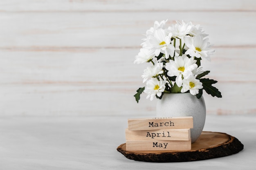
<path id="1" fill-rule="evenodd" d="M 186 55 L 197 58 L 206 58 L 211 61 L 210 55 L 212 55 L 215 50 L 210 49 L 211 45 L 208 42 L 208 38 L 204 39 L 202 35 L 195 37 L 185 37 L 184 38 L 186 49 Z"/>

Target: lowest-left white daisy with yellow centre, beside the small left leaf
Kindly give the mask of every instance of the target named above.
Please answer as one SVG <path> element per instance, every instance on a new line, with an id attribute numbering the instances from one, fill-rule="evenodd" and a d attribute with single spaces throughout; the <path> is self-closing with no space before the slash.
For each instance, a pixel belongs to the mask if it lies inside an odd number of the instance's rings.
<path id="1" fill-rule="evenodd" d="M 162 95 L 162 92 L 164 92 L 165 84 L 165 81 L 158 81 L 156 78 L 151 78 L 150 80 L 148 80 L 144 90 L 144 93 L 147 94 L 146 99 L 150 98 L 150 100 L 152 101 L 155 95 L 160 97 Z"/>

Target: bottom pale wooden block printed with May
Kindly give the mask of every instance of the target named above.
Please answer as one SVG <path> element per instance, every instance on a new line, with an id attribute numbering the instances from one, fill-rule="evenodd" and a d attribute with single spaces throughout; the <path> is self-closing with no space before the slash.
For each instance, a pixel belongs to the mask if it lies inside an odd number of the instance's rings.
<path id="1" fill-rule="evenodd" d="M 189 141 L 126 140 L 126 150 L 191 150 Z"/>

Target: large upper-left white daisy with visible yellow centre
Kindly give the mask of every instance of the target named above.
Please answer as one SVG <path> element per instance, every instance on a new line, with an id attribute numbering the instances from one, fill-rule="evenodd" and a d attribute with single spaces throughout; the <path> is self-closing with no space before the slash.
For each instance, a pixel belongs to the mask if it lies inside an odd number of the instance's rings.
<path id="1" fill-rule="evenodd" d="M 157 29 L 154 34 L 148 38 L 151 50 L 155 52 L 155 56 L 160 53 L 165 54 L 168 59 L 169 55 L 173 57 L 175 47 L 171 44 L 171 35 L 167 35 L 164 29 Z"/>

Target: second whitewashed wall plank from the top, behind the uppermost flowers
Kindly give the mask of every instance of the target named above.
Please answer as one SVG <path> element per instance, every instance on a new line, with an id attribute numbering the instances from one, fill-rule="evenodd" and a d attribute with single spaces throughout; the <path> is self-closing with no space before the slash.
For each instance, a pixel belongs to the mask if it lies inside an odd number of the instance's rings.
<path id="1" fill-rule="evenodd" d="M 200 24 L 216 46 L 255 47 L 256 12 L 1 13 L 0 46 L 6 48 L 137 47 L 155 20 Z M 219 20 L 219 18 L 222 18 Z"/>

